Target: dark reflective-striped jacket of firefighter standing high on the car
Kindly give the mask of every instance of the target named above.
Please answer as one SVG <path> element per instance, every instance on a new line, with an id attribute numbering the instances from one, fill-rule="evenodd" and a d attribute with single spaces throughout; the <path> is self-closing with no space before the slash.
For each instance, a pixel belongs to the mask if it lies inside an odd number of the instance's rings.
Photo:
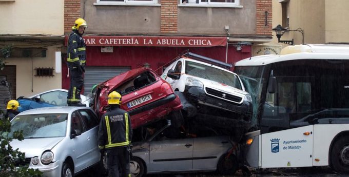
<path id="1" fill-rule="evenodd" d="M 85 71 L 86 45 L 77 30 L 73 30 L 68 38 L 67 65 L 70 69 L 81 68 Z"/>

